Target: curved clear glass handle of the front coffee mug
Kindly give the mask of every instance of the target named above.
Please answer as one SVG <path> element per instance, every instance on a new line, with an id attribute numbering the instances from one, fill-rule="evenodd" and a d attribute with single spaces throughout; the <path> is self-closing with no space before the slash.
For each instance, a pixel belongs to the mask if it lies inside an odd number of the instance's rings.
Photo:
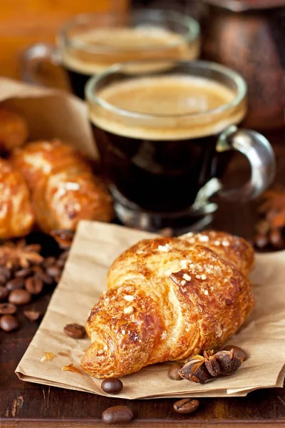
<path id="1" fill-rule="evenodd" d="M 249 161 L 252 173 L 247 183 L 239 188 L 223 190 L 219 183 L 218 195 L 232 201 L 245 201 L 257 198 L 269 188 L 276 173 L 274 151 L 269 141 L 251 129 L 239 129 L 229 126 L 220 136 L 216 146 L 217 152 L 235 150 L 242 153 Z"/>

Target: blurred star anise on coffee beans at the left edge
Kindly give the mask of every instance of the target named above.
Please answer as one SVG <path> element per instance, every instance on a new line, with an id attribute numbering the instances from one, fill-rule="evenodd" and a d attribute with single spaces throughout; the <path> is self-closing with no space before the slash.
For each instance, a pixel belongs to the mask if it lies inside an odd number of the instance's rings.
<path id="1" fill-rule="evenodd" d="M 0 265 L 8 269 L 14 267 L 28 267 L 31 264 L 38 265 L 43 261 L 39 254 L 41 245 L 26 245 L 26 240 L 19 240 L 17 243 L 7 241 L 0 246 Z"/>

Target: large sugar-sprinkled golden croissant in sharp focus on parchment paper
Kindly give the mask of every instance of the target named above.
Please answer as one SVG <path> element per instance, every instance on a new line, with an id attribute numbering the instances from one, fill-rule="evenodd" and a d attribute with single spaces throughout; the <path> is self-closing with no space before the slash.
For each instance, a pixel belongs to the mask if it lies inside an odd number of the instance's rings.
<path id="1" fill-rule="evenodd" d="M 108 292 L 88 318 L 81 360 L 94 377 L 184 360 L 222 345 L 254 305 L 245 275 L 252 246 L 227 233 L 142 240 L 108 272 Z"/>

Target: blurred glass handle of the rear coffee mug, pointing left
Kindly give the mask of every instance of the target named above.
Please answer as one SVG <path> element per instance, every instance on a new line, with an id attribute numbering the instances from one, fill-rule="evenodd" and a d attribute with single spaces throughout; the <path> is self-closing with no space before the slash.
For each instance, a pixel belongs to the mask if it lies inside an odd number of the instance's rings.
<path id="1" fill-rule="evenodd" d="M 30 46 L 21 58 L 24 81 L 41 86 L 70 90 L 68 79 L 60 66 L 58 50 L 52 44 Z"/>

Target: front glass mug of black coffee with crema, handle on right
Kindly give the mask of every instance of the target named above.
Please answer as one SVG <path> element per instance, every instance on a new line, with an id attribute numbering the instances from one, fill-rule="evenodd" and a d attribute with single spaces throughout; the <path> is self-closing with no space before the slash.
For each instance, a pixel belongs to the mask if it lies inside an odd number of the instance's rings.
<path id="1" fill-rule="evenodd" d="M 86 86 L 89 117 L 118 218 L 146 230 L 207 223 L 218 193 L 256 198 L 274 178 L 275 160 L 261 134 L 237 128 L 247 112 L 247 84 L 207 61 L 117 64 Z M 138 70 L 142 70 L 138 72 Z M 147 70 L 147 71 L 145 71 Z M 247 157 L 252 175 L 223 190 L 219 152 Z"/>

